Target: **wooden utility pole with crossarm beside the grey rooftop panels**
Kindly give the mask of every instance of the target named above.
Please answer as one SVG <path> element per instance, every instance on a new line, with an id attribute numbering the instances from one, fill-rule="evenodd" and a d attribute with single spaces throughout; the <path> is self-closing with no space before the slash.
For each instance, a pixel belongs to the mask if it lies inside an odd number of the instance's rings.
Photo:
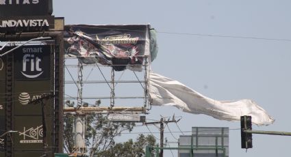
<path id="1" fill-rule="evenodd" d="M 175 115 L 173 115 L 173 119 L 172 120 L 170 120 L 170 119 L 165 120 L 164 117 L 162 117 L 160 119 L 160 121 L 158 121 L 158 122 L 146 122 L 146 123 L 144 123 L 145 125 L 160 124 L 160 128 L 159 128 L 159 130 L 160 130 L 160 147 L 161 147 L 161 149 L 160 149 L 160 157 L 163 157 L 164 156 L 164 149 L 163 149 L 163 147 L 164 147 L 164 124 L 167 125 L 168 123 L 177 123 L 180 120 L 181 119 L 178 119 L 176 121 L 175 120 Z"/>

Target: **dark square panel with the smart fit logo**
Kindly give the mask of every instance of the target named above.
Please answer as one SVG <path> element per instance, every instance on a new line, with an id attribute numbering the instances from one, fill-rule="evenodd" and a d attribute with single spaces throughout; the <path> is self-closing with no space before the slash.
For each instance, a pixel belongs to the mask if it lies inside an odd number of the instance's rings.
<path id="1" fill-rule="evenodd" d="M 36 80 L 51 77 L 51 46 L 23 46 L 14 51 L 14 79 Z"/>

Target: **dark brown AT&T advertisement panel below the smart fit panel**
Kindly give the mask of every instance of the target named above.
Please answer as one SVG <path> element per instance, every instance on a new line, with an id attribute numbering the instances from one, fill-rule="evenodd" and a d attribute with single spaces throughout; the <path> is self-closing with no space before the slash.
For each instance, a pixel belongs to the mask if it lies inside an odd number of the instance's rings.
<path id="1" fill-rule="evenodd" d="M 29 103 L 49 94 L 50 81 L 15 81 L 14 82 L 14 115 L 42 115 L 40 102 Z M 53 109 L 52 100 L 44 101 L 45 111 L 50 115 Z"/>

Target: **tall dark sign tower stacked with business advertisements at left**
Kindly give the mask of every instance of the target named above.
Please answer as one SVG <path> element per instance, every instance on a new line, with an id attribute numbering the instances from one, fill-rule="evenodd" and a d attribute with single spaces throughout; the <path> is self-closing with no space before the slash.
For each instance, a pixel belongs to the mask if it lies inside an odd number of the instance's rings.
<path id="1" fill-rule="evenodd" d="M 14 131 L 0 157 L 62 152 L 64 20 L 52 12 L 52 0 L 0 1 L 0 136 Z"/>

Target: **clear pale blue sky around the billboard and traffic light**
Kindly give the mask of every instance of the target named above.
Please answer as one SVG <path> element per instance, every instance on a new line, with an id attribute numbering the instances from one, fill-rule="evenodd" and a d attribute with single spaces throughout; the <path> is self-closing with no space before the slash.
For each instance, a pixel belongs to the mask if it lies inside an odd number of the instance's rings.
<path id="1" fill-rule="evenodd" d="M 151 64 L 154 72 L 216 100 L 254 100 L 275 119 L 269 126 L 253 126 L 254 130 L 291 132 L 290 7 L 287 0 L 62 0 L 53 1 L 53 15 L 64 17 L 66 25 L 150 24 L 157 30 L 159 44 Z M 170 106 L 153 107 L 147 118 L 174 113 L 182 117 L 178 123 L 182 131 L 193 126 L 229 127 L 229 156 L 290 156 L 291 137 L 253 134 L 253 148 L 241 149 L 240 122 L 183 113 Z M 177 147 L 179 128 L 175 124 L 169 128 L 175 133 L 165 137 Z M 140 126 L 133 132 L 148 130 Z"/>

